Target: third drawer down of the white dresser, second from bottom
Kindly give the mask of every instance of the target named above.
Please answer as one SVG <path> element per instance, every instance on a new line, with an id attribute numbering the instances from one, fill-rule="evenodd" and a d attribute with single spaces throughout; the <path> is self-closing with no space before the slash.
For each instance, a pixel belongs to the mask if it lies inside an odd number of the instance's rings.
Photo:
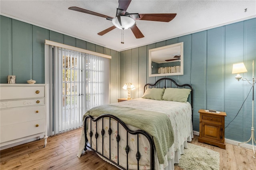
<path id="1" fill-rule="evenodd" d="M 16 123 L 44 119 L 46 116 L 46 108 L 44 105 L 42 105 L 34 107 L 2 109 L 0 112 L 0 116 L 0 125 L 2 127 Z"/>

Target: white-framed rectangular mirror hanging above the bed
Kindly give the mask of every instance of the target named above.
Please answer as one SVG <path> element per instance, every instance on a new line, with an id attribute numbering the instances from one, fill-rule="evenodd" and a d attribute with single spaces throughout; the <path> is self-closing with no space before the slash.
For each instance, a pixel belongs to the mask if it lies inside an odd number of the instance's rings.
<path id="1" fill-rule="evenodd" d="M 183 42 L 149 49 L 149 77 L 183 75 Z"/>

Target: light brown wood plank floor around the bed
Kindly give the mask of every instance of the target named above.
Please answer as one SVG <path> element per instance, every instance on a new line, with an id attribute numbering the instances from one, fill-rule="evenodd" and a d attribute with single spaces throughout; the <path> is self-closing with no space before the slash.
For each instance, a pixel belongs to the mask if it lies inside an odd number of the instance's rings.
<path id="1" fill-rule="evenodd" d="M 117 170 L 100 159 L 94 152 L 86 152 L 80 158 L 76 156 L 81 128 L 44 140 L 37 140 L 0 151 L 1 170 Z M 194 136 L 193 144 L 220 152 L 220 170 L 256 170 L 253 151 L 226 144 L 226 150 L 198 142 Z M 178 166 L 175 170 L 181 170 Z"/>

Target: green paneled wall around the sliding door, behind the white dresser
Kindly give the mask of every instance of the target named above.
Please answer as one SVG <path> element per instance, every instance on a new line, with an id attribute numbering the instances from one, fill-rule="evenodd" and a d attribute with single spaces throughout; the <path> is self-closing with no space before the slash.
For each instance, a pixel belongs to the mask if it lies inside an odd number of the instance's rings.
<path id="1" fill-rule="evenodd" d="M 111 55 L 110 101 L 117 101 L 119 85 L 119 52 L 40 28 L 25 22 L 0 16 L 0 83 L 7 83 L 7 75 L 16 75 L 16 83 L 29 79 L 44 83 L 44 40 L 72 45 L 82 49 Z"/>

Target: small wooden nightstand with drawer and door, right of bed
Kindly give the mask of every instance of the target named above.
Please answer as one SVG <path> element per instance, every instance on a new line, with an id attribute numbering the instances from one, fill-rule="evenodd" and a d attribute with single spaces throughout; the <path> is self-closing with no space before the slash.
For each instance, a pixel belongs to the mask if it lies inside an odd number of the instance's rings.
<path id="1" fill-rule="evenodd" d="M 226 149 L 225 142 L 225 112 L 209 113 L 204 109 L 200 113 L 198 142 L 219 146 Z"/>

